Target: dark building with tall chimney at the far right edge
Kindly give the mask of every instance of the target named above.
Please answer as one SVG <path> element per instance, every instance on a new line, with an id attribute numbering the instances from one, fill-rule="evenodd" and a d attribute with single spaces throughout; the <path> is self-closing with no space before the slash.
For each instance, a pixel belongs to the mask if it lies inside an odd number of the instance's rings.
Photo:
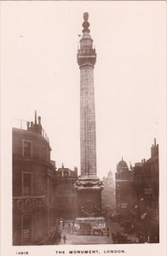
<path id="1" fill-rule="evenodd" d="M 135 224 L 138 236 L 142 236 L 144 241 L 158 242 L 159 168 L 158 144 L 155 139 L 151 148 L 151 158 L 136 163 L 133 172 L 136 195 Z"/>

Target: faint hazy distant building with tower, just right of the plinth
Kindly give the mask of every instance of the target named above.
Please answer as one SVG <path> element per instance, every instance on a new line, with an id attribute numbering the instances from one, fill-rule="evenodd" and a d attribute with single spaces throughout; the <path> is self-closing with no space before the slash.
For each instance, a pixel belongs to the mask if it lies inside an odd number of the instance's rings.
<path id="1" fill-rule="evenodd" d="M 104 187 L 101 192 L 102 212 L 108 216 L 115 209 L 115 185 L 111 171 L 107 173 L 107 177 L 103 177 L 103 184 Z"/>

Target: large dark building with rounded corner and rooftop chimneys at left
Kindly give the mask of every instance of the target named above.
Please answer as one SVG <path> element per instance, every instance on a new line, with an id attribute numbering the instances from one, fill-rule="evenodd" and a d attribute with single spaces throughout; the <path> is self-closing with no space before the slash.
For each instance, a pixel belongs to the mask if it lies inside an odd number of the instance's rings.
<path id="1" fill-rule="evenodd" d="M 41 118 L 27 129 L 13 128 L 13 245 L 43 244 L 51 224 L 49 139 Z"/>

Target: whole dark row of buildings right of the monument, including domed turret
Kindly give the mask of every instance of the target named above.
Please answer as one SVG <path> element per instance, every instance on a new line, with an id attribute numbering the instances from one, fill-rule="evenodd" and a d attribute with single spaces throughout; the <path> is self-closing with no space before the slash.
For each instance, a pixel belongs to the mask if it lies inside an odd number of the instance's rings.
<path id="1" fill-rule="evenodd" d="M 130 170 L 121 160 L 116 173 L 116 211 L 120 222 L 129 221 L 126 231 L 138 242 L 159 242 L 158 144 L 154 139 L 151 157 L 135 163 Z"/>

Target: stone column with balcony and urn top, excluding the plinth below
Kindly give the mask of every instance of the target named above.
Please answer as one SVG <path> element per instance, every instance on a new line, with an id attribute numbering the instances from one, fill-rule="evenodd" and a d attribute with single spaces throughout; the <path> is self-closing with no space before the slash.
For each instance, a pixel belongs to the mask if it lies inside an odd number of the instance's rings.
<path id="1" fill-rule="evenodd" d="M 88 13 L 84 13 L 83 35 L 78 49 L 80 68 L 80 154 L 81 177 L 96 177 L 94 66 L 93 40 L 89 35 Z"/>

